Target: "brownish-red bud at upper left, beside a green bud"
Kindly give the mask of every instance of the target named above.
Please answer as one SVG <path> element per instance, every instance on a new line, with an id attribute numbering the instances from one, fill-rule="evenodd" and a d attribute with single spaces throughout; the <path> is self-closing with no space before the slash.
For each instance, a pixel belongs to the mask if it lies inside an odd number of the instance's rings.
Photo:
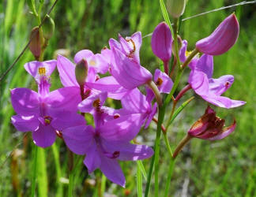
<path id="1" fill-rule="evenodd" d="M 29 43 L 29 50 L 32 52 L 36 60 L 40 57 L 41 54 L 41 40 L 40 40 L 40 28 L 32 28 L 30 34 L 31 42 Z"/>

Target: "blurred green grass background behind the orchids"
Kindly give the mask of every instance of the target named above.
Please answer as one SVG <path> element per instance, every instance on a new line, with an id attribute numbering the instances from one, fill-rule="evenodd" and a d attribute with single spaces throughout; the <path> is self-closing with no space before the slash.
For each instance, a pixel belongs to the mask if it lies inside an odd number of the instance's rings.
<path id="1" fill-rule="evenodd" d="M 54 1 L 45 1 L 43 14 Z M 184 17 L 228 6 L 241 1 L 200 0 L 188 1 Z M 237 128 L 227 139 L 216 142 L 193 139 L 179 154 L 171 180 L 170 196 L 256 196 L 256 5 L 238 6 L 216 13 L 186 20 L 181 24 L 180 35 L 189 42 L 193 50 L 194 43 L 209 35 L 220 21 L 235 11 L 239 19 L 240 34 L 235 46 L 228 53 L 214 58 L 214 77 L 225 74 L 235 76 L 235 83 L 224 94 L 232 99 L 247 101 L 245 106 L 232 110 L 214 108 L 227 125 L 235 117 Z M 164 20 L 159 1 L 149 0 L 62 0 L 58 1 L 51 17 L 55 20 L 55 35 L 47 47 L 45 59 L 54 58 L 55 50 L 66 49 L 68 57 L 82 49 L 94 53 L 107 46 L 108 39 L 118 38 L 141 31 L 147 35 Z M 36 20 L 29 13 L 25 0 L 3 0 L 0 2 L 0 72 L 1 75 L 11 65 L 22 48 L 28 42 L 31 29 Z M 141 64 L 153 71 L 159 60 L 152 54 L 151 37 L 143 39 Z M 10 124 L 14 114 L 9 99 L 9 88 L 36 88 L 31 76 L 24 71 L 24 63 L 33 57 L 27 50 L 0 83 L 0 194 L 1 196 L 30 195 L 32 179 L 32 139 L 17 132 Z M 186 84 L 187 69 L 179 88 Z M 53 89 L 60 87 L 58 73 L 52 77 Z M 181 102 L 194 93 L 186 93 Z M 114 103 L 115 104 L 115 103 Z M 186 107 L 169 131 L 171 147 L 183 138 L 190 125 L 203 113 L 207 103 L 196 97 Z M 152 146 L 156 126 L 141 131 L 139 138 Z M 8 155 L 13 151 L 11 157 Z M 166 172 L 170 158 L 166 154 L 164 140 L 160 152 L 160 194 L 164 192 L 167 180 Z M 68 169 L 67 151 L 61 139 L 53 147 L 40 151 L 38 162 L 38 196 L 66 196 Z M 6 159 L 7 158 L 7 159 Z M 75 196 L 136 196 L 136 163 L 122 162 L 126 175 L 126 188 L 111 184 L 107 180 L 106 188 L 100 188 L 101 174 L 96 171 L 88 176 L 78 161 L 75 176 Z M 149 160 L 143 162 L 149 169 Z M 153 179 L 152 179 L 153 183 Z M 144 180 L 145 185 L 145 180 Z M 102 194 L 104 191 L 104 195 Z M 153 191 L 153 185 L 151 187 Z"/>

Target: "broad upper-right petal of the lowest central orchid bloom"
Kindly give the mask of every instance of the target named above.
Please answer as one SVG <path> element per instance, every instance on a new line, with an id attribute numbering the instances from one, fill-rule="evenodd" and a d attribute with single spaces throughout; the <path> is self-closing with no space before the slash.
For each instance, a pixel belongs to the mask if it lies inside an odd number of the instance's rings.
<path id="1" fill-rule="evenodd" d="M 134 139 L 140 131 L 142 119 L 138 113 L 121 116 L 113 121 L 107 121 L 97 128 L 97 131 L 106 140 L 127 142 Z"/>

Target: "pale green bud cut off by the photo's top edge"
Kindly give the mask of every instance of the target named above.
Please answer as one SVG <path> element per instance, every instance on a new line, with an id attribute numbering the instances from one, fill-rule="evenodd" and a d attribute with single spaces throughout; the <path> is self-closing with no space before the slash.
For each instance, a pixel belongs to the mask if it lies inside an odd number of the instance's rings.
<path id="1" fill-rule="evenodd" d="M 179 18 L 183 15 L 186 6 L 186 0 L 168 0 L 167 9 L 171 17 Z"/>

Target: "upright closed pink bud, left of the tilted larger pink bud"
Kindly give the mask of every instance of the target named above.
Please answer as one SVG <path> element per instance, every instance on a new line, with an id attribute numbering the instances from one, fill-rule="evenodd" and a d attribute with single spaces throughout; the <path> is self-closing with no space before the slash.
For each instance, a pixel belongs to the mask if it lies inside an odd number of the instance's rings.
<path id="1" fill-rule="evenodd" d="M 162 22 L 158 24 L 152 33 L 152 52 L 162 61 L 169 61 L 171 58 L 171 30 L 168 24 Z"/>

